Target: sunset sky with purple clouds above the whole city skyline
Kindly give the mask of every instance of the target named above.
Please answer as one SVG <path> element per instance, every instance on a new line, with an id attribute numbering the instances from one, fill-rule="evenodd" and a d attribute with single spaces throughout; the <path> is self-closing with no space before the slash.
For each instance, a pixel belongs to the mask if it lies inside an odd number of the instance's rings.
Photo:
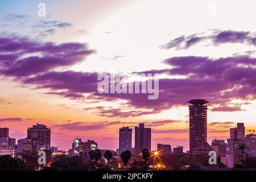
<path id="1" fill-rule="evenodd" d="M 39 3 L 46 16 L 39 16 Z M 207 99 L 208 142 L 255 129 L 255 1 L 0 2 L 0 127 L 51 145 L 93 139 L 118 148 L 119 128 L 145 123 L 156 143 L 188 150 L 188 103 Z M 159 97 L 100 94 L 100 73 L 159 73 Z M 135 80 L 141 77 L 132 78 Z M 134 134 L 133 134 L 134 146 Z"/>

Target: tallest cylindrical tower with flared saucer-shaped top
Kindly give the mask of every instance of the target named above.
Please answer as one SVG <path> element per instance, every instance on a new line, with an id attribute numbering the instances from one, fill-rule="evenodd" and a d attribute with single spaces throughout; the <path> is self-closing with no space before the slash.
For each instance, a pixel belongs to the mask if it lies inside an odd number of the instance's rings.
<path id="1" fill-rule="evenodd" d="M 189 152 L 207 143 L 207 100 L 190 100 L 189 106 Z"/>

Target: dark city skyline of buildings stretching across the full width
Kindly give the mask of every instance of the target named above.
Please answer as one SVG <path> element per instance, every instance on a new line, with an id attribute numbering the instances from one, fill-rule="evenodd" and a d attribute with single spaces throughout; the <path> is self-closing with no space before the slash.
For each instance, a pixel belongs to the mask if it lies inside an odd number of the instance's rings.
<path id="1" fill-rule="evenodd" d="M 164 161 L 162 161 L 160 155 L 207 157 L 212 155 L 212 152 L 215 152 L 215 158 L 219 159 L 218 163 L 215 164 L 217 164 L 217 167 L 219 168 L 226 169 L 239 168 L 240 165 L 242 165 L 241 160 L 243 160 L 243 158 L 254 160 L 256 157 L 256 134 L 254 134 L 254 130 L 249 130 L 250 134 L 245 134 L 244 123 L 237 123 L 237 127 L 229 128 L 230 135 L 226 140 L 226 143 L 225 139 L 213 139 L 212 143 L 209 144 L 207 141 L 208 109 L 207 105 L 205 105 L 209 103 L 209 101 L 204 99 L 192 99 L 188 101 L 188 103 L 191 105 L 188 106 L 189 151 L 187 152 L 183 151 L 183 146 L 171 148 L 170 143 L 158 143 L 156 145 L 157 149 L 151 150 L 151 128 L 145 127 L 144 123 L 139 123 L 139 126 L 134 127 L 134 148 L 132 148 L 133 145 L 131 141 L 132 129 L 129 127 L 122 127 L 119 129 L 119 147 L 116 151 L 109 150 L 109 148 L 102 149 L 98 146 L 97 141 L 94 140 L 88 139 L 83 142 L 81 138 L 74 139 L 72 147 L 68 151 L 63 151 L 59 150 L 58 146 L 51 146 L 51 129 L 46 125 L 36 123 L 36 125 L 33 125 L 32 127 L 28 127 L 27 137 L 18 139 L 18 144 L 16 144 L 15 138 L 10 137 L 9 128 L 0 128 L 0 156 L 10 155 L 13 156 L 13 158 L 17 158 L 24 154 L 32 156 L 40 151 L 50 151 L 52 152 L 52 159 L 56 155 L 68 155 L 68 157 L 80 156 L 81 159 L 86 156 L 87 158 L 89 156 L 90 158 L 94 156 L 97 166 L 98 160 L 102 159 L 101 152 L 104 153 L 106 163 L 109 162 L 108 155 L 110 158 L 112 158 L 112 155 L 118 156 L 118 158 L 121 156 L 122 158 L 127 152 L 130 152 L 130 156 L 133 155 L 134 159 L 143 156 L 146 163 L 147 161 L 144 155 L 146 155 L 145 152 L 148 152 L 148 159 L 150 159 L 151 156 L 154 156 L 154 161 L 151 166 L 158 170 L 159 168 L 167 168 L 164 166 Z M 91 158 L 91 160 L 93 162 L 93 158 Z M 46 165 L 46 163 L 44 165 Z M 123 165 L 127 167 L 127 163 L 123 162 Z M 190 164 L 187 164 L 183 167 L 189 168 L 189 165 Z M 51 164 L 48 163 L 47 166 L 51 167 Z M 207 166 L 208 165 L 205 164 L 205 167 Z M 181 166 L 181 169 L 183 167 Z M 119 168 L 121 168 L 120 163 L 118 163 L 118 169 Z"/>

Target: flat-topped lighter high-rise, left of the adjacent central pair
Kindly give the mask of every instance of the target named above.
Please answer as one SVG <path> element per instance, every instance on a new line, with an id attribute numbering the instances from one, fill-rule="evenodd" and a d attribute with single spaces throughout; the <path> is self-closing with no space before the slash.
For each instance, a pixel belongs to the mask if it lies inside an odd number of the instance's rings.
<path id="1" fill-rule="evenodd" d="M 131 151 L 131 135 L 132 129 L 129 127 L 122 127 L 119 129 L 119 153 L 129 150 Z"/>

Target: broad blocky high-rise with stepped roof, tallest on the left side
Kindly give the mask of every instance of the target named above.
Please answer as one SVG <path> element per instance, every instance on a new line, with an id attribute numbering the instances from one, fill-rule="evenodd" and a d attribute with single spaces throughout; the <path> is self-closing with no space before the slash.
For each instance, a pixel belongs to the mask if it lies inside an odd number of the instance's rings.
<path id="1" fill-rule="evenodd" d="M 33 127 L 27 129 L 28 143 L 32 144 L 32 152 L 38 152 L 40 147 L 46 147 L 49 150 L 51 147 L 51 129 L 46 125 L 36 123 Z"/>

